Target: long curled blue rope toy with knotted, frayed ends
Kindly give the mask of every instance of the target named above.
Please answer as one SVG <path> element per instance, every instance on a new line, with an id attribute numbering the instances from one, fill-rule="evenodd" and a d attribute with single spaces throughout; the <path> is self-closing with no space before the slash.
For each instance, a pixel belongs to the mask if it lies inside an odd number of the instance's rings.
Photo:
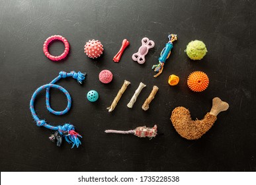
<path id="1" fill-rule="evenodd" d="M 36 99 L 36 96 L 38 95 L 39 92 L 42 90 L 46 89 L 46 108 L 51 112 L 52 114 L 56 115 L 63 115 L 67 113 L 71 107 L 71 96 L 69 95 L 69 92 L 65 90 L 63 87 L 60 85 L 55 85 L 57 81 L 59 81 L 62 78 L 65 77 L 73 77 L 73 79 L 76 79 L 78 83 L 82 83 L 83 80 L 85 79 L 85 74 L 81 73 L 80 71 L 78 73 L 75 73 L 75 71 L 71 71 L 70 73 L 66 73 L 65 71 L 61 71 L 53 81 L 46 85 L 42 85 L 36 91 L 34 91 L 34 94 L 32 95 L 32 98 L 30 100 L 30 111 L 32 113 L 32 116 L 36 122 L 37 126 L 44 126 L 45 128 L 48 129 L 53 129 L 56 130 L 54 134 L 52 134 L 49 139 L 53 142 L 57 143 L 57 146 L 60 147 L 62 145 L 62 137 L 65 137 L 65 141 L 67 143 L 73 143 L 72 148 L 76 145 L 79 147 L 81 145 L 81 141 L 79 140 L 79 137 L 82 137 L 79 135 L 79 133 L 75 132 L 75 128 L 71 124 L 64 124 L 64 126 L 51 126 L 50 124 L 46 124 L 45 120 L 40 120 L 38 116 L 36 115 L 36 112 L 34 111 L 34 100 Z M 63 111 L 55 111 L 51 108 L 50 106 L 50 88 L 56 88 L 59 89 L 60 91 L 64 92 L 65 96 L 67 97 L 67 107 Z"/>

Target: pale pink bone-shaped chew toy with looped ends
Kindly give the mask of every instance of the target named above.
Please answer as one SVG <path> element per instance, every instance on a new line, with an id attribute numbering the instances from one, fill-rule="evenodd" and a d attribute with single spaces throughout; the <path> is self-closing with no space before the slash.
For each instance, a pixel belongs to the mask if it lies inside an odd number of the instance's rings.
<path id="1" fill-rule="evenodd" d="M 148 50 L 155 46 L 155 42 L 153 40 L 149 40 L 148 38 L 142 38 L 142 46 L 140 46 L 138 52 L 132 55 L 132 59 L 134 61 L 138 61 L 138 63 L 145 63 L 145 55 L 148 54 Z"/>

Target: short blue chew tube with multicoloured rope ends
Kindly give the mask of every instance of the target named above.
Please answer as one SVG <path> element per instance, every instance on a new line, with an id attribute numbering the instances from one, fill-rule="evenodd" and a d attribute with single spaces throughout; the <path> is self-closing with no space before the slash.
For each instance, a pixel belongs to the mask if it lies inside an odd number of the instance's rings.
<path id="1" fill-rule="evenodd" d="M 165 48 L 161 51 L 160 57 L 158 58 L 158 64 L 153 65 L 152 69 L 155 72 L 158 72 L 153 77 L 158 77 L 163 71 L 163 65 L 165 65 L 165 61 L 171 55 L 171 49 L 173 49 L 173 41 L 177 40 L 177 34 L 170 34 L 168 36 L 169 41 L 165 44 Z"/>

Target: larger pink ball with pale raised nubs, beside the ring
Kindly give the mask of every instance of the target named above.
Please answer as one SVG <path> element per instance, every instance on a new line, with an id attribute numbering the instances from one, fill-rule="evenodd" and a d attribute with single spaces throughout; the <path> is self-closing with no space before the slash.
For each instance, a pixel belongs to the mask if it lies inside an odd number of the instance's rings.
<path id="1" fill-rule="evenodd" d="M 97 58 L 103 54 L 103 45 L 99 40 L 89 40 L 85 44 L 85 54 L 91 58 Z"/>

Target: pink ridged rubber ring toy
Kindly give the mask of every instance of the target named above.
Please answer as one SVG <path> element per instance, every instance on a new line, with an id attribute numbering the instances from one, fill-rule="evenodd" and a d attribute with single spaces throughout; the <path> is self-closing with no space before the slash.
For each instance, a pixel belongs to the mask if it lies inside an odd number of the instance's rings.
<path id="1" fill-rule="evenodd" d="M 58 56 L 54 56 L 54 55 L 51 55 L 48 51 L 48 45 L 50 44 L 50 42 L 52 42 L 53 40 L 60 40 L 64 43 L 64 46 L 65 46 L 65 50 L 63 52 L 63 54 L 61 55 L 58 55 Z M 68 52 L 69 52 L 69 43 L 67 42 L 67 40 L 63 37 L 63 36 L 60 36 L 60 35 L 54 35 L 54 36 L 50 36 L 49 38 L 46 39 L 46 41 L 44 42 L 44 47 L 43 47 L 43 51 L 44 51 L 44 54 L 46 55 L 46 57 L 48 57 L 48 59 L 51 59 L 53 61 L 58 61 L 58 60 L 61 60 L 61 59 L 64 59 Z"/>

